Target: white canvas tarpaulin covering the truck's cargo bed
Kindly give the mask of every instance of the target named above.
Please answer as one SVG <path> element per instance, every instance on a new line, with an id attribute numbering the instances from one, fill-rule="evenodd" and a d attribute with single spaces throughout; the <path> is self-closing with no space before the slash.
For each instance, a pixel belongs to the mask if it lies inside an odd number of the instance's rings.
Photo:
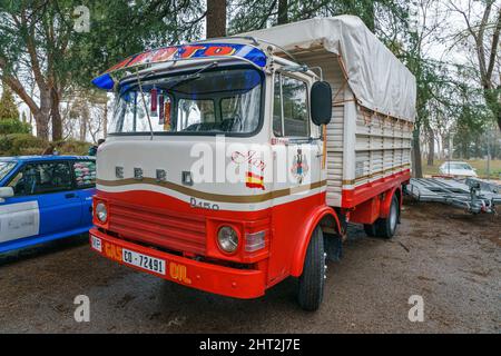
<path id="1" fill-rule="evenodd" d="M 317 18 L 240 36 L 252 36 L 292 52 L 322 44 L 343 59 L 350 88 L 361 106 L 415 120 L 414 76 L 357 17 Z"/>

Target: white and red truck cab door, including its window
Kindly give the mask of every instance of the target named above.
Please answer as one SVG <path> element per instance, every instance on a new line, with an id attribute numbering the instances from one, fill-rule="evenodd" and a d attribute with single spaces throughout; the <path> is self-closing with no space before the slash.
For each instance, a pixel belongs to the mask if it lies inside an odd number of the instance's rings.
<path id="1" fill-rule="evenodd" d="M 273 151 L 274 199 L 268 277 L 281 280 L 288 266 L 308 211 L 321 201 L 321 141 L 311 123 L 308 86 L 292 75 L 274 79 Z"/>

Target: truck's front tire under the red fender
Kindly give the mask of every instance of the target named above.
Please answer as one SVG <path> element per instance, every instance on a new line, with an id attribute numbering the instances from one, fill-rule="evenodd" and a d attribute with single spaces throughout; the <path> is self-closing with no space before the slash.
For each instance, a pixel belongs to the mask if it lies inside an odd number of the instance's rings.
<path id="1" fill-rule="evenodd" d="M 299 277 L 297 301 L 304 310 L 318 310 L 324 297 L 325 273 L 324 237 L 317 227 L 310 240 L 303 275 Z"/>

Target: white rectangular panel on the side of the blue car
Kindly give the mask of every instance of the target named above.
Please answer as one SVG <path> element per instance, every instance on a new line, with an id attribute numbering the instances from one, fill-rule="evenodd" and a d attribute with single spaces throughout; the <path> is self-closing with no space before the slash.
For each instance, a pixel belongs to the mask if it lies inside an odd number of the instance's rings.
<path id="1" fill-rule="evenodd" d="M 0 243 L 35 236 L 40 229 L 38 201 L 0 206 Z"/>

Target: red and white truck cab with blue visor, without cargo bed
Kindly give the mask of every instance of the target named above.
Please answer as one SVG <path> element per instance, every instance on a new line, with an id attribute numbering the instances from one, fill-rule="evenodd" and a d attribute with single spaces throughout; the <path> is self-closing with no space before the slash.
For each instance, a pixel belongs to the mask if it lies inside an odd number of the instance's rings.
<path id="1" fill-rule="evenodd" d="M 327 204 L 324 70 L 246 36 L 146 51 L 96 78 L 116 108 L 97 154 L 92 249 L 235 298 L 297 277 L 299 305 L 316 310 L 326 237 L 341 240 L 351 212 Z M 389 221 L 380 207 L 405 179 L 362 199 L 377 209 L 367 226 Z"/>

